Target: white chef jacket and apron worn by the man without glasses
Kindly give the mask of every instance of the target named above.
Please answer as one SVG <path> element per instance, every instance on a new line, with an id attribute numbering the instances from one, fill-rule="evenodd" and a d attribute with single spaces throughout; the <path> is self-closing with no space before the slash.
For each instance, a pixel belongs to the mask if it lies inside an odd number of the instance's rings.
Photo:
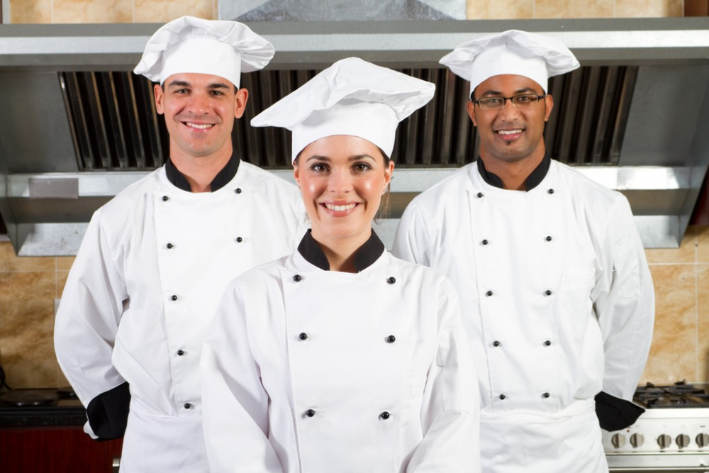
<path id="1" fill-rule="evenodd" d="M 168 162 L 94 213 L 55 345 L 87 406 L 87 433 L 120 437 L 128 416 L 122 472 L 208 471 L 199 379 L 206 329 L 228 282 L 290 254 L 306 228 L 297 187 L 237 157 L 211 193 L 191 193 Z"/>

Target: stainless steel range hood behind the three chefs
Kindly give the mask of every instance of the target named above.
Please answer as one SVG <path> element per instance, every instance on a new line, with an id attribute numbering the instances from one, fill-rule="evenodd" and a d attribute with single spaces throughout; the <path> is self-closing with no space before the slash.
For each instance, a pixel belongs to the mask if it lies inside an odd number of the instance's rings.
<path id="1" fill-rule="evenodd" d="M 622 191 L 646 247 L 676 247 L 709 164 L 709 20 L 255 23 L 277 55 L 246 74 L 253 116 L 350 55 L 437 84 L 400 127 L 391 240 L 408 201 L 476 157 L 467 86 L 437 61 L 509 28 L 563 40 L 583 66 L 554 78 L 545 140 L 554 159 Z M 128 72 L 155 24 L 0 26 L 0 213 L 18 255 L 73 255 L 91 213 L 162 164 L 150 83 Z M 289 137 L 235 127 L 240 156 L 290 178 Z"/>

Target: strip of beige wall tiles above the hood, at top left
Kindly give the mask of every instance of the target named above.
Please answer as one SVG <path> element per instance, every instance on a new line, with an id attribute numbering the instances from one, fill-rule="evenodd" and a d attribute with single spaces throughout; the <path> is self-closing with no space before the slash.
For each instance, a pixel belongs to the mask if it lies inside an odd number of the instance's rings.
<path id="1" fill-rule="evenodd" d="M 11 23 L 165 23 L 217 18 L 217 0 L 10 0 Z"/>

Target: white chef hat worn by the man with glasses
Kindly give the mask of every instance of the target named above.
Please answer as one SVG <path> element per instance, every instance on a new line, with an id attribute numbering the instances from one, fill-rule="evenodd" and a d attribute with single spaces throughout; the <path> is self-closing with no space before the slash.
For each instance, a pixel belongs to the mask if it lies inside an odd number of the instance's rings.
<path id="1" fill-rule="evenodd" d="M 574 53 L 554 38 L 520 30 L 463 43 L 440 63 L 470 81 L 470 94 L 489 77 L 515 74 L 529 77 L 547 92 L 549 77 L 579 67 Z"/>

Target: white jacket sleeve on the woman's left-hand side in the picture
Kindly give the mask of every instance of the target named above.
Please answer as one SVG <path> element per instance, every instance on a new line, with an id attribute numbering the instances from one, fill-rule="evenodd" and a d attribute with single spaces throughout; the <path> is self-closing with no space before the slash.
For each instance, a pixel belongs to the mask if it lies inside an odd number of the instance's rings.
<path id="1" fill-rule="evenodd" d="M 230 284 L 202 349 L 203 430 L 212 473 L 281 473 L 269 443 L 269 396 L 252 356 L 245 305 Z"/>

